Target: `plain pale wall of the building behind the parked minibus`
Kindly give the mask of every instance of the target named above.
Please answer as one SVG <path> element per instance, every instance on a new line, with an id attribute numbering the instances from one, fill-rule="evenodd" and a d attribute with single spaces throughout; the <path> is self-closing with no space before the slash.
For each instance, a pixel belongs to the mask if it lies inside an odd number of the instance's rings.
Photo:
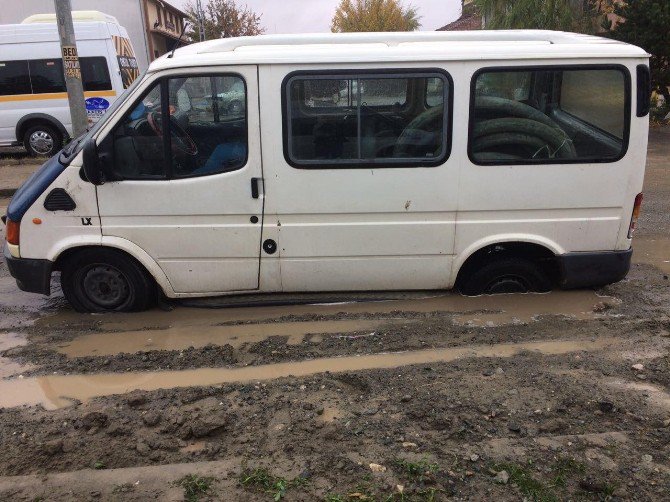
<path id="1" fill-rule="evenodd" d="M 33 14 L 54 13 L 53 0 L 1 0 L 0 24 L 20 23 Z M 142 0 L 71 0 L 72 10 L 98 10 L 114 16 L 128 31 L 140 71 L 149 66 L 149 47 Z"/>

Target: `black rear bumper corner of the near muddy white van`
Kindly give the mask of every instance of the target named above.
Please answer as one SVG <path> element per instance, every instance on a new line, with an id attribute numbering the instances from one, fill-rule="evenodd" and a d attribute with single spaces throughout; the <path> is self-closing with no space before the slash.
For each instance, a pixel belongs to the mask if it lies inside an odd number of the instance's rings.
<path id="1" fill-rule="evenodd" d="M 560 286 L 564 289 L 598 287 L 619 282 L 630 270 L 633 249 L 559 255 Z"/>

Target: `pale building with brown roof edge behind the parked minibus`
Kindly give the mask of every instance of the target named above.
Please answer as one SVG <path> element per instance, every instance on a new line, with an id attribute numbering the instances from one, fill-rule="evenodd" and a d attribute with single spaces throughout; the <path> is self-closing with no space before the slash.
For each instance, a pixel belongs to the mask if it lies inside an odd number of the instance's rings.
<path id="1" fill-rule="evenodd" d="M 188 15 L 166 0 L 71 0 L 73 10 L 97 10 L 118 19 L 128 31 L 141 71 L 172 50 Z M 54 13 L 53 0 L 3 2 L 0 24 L 20 23 L 33 14 Z M 187 42 L 179 42 L 185 45 Z"/>

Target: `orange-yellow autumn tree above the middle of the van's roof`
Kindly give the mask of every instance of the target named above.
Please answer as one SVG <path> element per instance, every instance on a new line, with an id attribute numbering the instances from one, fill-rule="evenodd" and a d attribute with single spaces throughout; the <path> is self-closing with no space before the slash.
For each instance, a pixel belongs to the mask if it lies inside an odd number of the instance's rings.
<path id="1" fill-rule="evenodd" d="M 399 0 L 341 0 L 331 30 L 414 31 L 421 26 L 420 19 L 415 7 L 405 7 Z"/>

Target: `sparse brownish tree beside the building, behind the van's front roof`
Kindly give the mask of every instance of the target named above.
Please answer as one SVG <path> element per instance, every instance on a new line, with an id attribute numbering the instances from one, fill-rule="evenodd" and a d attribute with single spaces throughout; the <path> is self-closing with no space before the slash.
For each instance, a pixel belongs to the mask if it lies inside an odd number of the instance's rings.
<path id="1" fill-rule="evenodd" d="M 265 28 L 261 26 L 261 16 L 247 6 L 239 7 L 235 0 L 209 0 L 204 11 L 205 38 L 207 40 L 265 33 Z M 186 13 L 191 19 L 198 18 L 195 5 L 192 3 L 186 6 Z M 200 40 L 198 23 L 194 23 L 194 27 L 188 33 L 188 36 L 192 41 Z"/>

